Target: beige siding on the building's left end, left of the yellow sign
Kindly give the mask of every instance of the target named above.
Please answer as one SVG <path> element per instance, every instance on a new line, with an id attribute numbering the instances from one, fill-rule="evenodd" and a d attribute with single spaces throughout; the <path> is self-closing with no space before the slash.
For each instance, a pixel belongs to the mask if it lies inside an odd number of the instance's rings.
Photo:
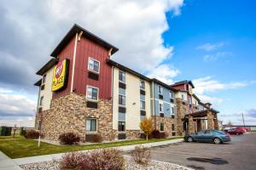
<path id="1" fill-rule="evenodd" d="M 39 96 L 39 101 L 40 101 L 41 97 L 44 96 L 43 105 L 39 105 L 39 103 L 38 103 L 38 107 L 42 107 L 43 111 L 49 110 L 50 101 L 52 99 L 51 82 L 52 82 L 53 68 L 49 69 L 49 71 L 47 71 L 45 73 L 46 80 L 44 82 L 44 90 L 41 90 L 40 96 Z"/>

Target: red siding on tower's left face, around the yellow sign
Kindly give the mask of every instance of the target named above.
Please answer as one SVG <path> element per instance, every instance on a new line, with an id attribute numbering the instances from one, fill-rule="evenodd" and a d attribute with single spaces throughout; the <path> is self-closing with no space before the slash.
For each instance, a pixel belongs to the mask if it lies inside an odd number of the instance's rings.
<path id="1" fill-rule="evenodd" d="M 72 80 L 72 68 L 73 68 L 73 49 L 74 49 L 75 36 L 73 39 L 67 43 L 67 46 L 62 49 L 61 53 L 58 54 L 58 58 L 60 59 L 70 59 L 69 63 L 69 71 L 68 71 L 68 82 L 67 88 L 53 93 L 53 99 L 56 99 L 62 95 L 69 94 L 71 88 L 71 80 Z"/>

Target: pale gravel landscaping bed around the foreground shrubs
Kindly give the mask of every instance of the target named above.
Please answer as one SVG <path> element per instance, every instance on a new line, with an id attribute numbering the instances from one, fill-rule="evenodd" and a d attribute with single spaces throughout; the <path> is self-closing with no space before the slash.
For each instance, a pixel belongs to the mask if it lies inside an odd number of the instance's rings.
<path id="1" fill-rule="evenodd" d="M 59 170 L 59 161 L 43 161 L 38 163 L 31 163 L 26 165 L 21 165 L 25 170 Z M 143 166 L 137 164 L 132 160 L 131 156 L 125 156 L 125 169 L 129 170 L 187 170 L 189 168 L 181 167 L 172 163 L 162 162 L 162 161 L 150 161 L 148 166 Z"/>

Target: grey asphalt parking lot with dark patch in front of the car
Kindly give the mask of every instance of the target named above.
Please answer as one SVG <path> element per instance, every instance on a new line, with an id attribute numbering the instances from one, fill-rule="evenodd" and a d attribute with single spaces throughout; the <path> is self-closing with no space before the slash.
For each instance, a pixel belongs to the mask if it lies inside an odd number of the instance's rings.
<path id="1" fill-rule="evenodd" d="M 256 133 L 232 135 L 226 144 L 179 143 L 151 149 L 152 159 L 195 169 L 256 169 Z"/>

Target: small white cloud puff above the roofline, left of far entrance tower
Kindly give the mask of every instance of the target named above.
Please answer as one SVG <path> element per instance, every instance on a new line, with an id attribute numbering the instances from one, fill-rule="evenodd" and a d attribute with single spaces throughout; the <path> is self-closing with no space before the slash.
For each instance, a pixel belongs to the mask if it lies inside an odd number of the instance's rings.
<path id="1" fill-rule="evenodd" d="M 177 77 L 180 73 L 179 70 L 171 67 L 169 65 L 159 65 L 154 70 L 148 73 L 148 77 L 157 78 L 162 82 L 166 82 L 167 84 L 174 83 L 172 78 Z"/>

